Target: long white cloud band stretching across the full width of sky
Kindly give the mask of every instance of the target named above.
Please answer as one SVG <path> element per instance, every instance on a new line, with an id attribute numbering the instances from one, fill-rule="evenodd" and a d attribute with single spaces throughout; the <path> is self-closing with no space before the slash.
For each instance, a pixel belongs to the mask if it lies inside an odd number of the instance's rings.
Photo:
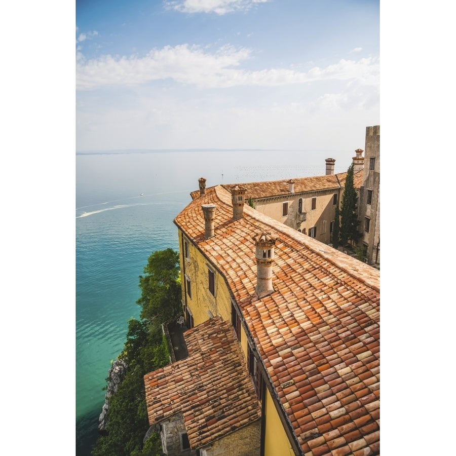
<path id="1" fill-rule="evenodd" d="M 307 72 L 289 68 L 258 71 L 240 68 L 250 54 L 251 51 L 246 48 L 236 50 L 231 46 L 209 54 L 197 46 L 185 44 L 154 49 L 144 57 L 105 55 L 88 61 L 79 58 L 76 65 L 77 89 L 135 86 L 165 79 L 199 88 L 271 87 L 328 80 L 378 84 L 379 61 L 374 57 L 359 61 L 343 59 L 326 68 L 314 67 Z"/>

